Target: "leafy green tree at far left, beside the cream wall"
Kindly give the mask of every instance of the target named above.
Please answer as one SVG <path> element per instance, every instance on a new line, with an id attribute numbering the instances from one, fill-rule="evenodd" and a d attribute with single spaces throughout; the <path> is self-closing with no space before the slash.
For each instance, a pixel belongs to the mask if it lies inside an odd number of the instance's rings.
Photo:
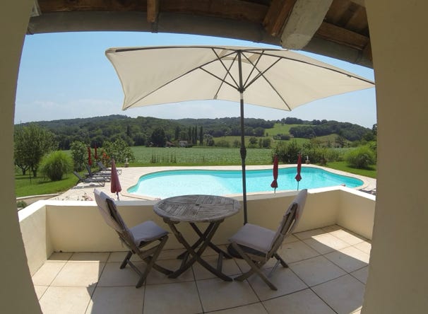
<path id="1" fill-rule="evenodd" d="M 15 164 L 23 170 L 23 174 L 29 169 L 33 177 L 37 177 L 37 169 L 44 154 L 58 147 L 54 134 L 37 124 L 16 127 L 14 141 Z"/>

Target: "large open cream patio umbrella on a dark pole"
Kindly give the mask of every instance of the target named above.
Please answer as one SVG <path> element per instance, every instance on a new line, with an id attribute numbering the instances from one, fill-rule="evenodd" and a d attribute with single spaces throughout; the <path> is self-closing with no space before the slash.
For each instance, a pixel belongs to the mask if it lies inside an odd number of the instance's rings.
<path id="1" fill-rule="evenodd" d="M 263 47 L 164 46 L 105 52 L 124 91 L 123 109 L 189 100 L 240 103 L 242 195 L 246 223 L 245 103 L 282 110 L 374 82 L 289 50 Z"/>

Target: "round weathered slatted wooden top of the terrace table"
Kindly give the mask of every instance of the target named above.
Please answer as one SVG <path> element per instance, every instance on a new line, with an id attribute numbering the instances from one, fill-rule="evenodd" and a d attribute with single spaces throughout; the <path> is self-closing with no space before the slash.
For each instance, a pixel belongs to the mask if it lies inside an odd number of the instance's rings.
<path id="1" fill-rule="evenodd" d="M 157 202 L 153 209 L 171 221 L 213 222 L 237 214 L 241 204 L 236 199 L 216 195 L 180 195 Z"/>

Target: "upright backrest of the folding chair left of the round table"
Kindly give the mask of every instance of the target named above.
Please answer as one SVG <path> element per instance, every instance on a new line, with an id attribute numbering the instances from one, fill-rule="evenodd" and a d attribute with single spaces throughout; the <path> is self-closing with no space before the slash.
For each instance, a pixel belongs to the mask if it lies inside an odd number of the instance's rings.
<path id="1" fill-rule="evenodd" d="M 119 211 L 117 211 L 114 200 L 105 194 L 105 192 L 101 192 L 97 189 L 94 190 L 94 195 L 100 214 L 107 225 L 119 233 L 121 240 L 124 240 L 128 245 L 131 245 L 131 243 L 133 243 L 132 233 L 129 231 L 128 226 L 126 226 L 126 223 L 120 216 Z"/>

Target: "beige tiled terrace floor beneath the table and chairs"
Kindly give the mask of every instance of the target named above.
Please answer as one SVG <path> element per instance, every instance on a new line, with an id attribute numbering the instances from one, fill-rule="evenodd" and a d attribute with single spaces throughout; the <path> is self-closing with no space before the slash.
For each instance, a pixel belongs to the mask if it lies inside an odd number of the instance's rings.
<path id="1" fill-rule="evenodd" d="M 222 281 L 198 264 L 178 279 L 152 271 L 136 289 L 135 272 L 119 269 L 124 252 L 56 252 L 32 281 L 45 314 L 359 313 L 370 248 L 369 240 L 336 225 L 295 233 L 280 250 L 290 268 L 278 267 L 271 277 L 278 291 L 255 276 Z M 159 263 L 177 269 L 179 252 L 165 250 Z M 214 263 L 210 253 L 206 258 Z M 223 262 L 231 276 L 246 269 L 242 260 Z"/>

